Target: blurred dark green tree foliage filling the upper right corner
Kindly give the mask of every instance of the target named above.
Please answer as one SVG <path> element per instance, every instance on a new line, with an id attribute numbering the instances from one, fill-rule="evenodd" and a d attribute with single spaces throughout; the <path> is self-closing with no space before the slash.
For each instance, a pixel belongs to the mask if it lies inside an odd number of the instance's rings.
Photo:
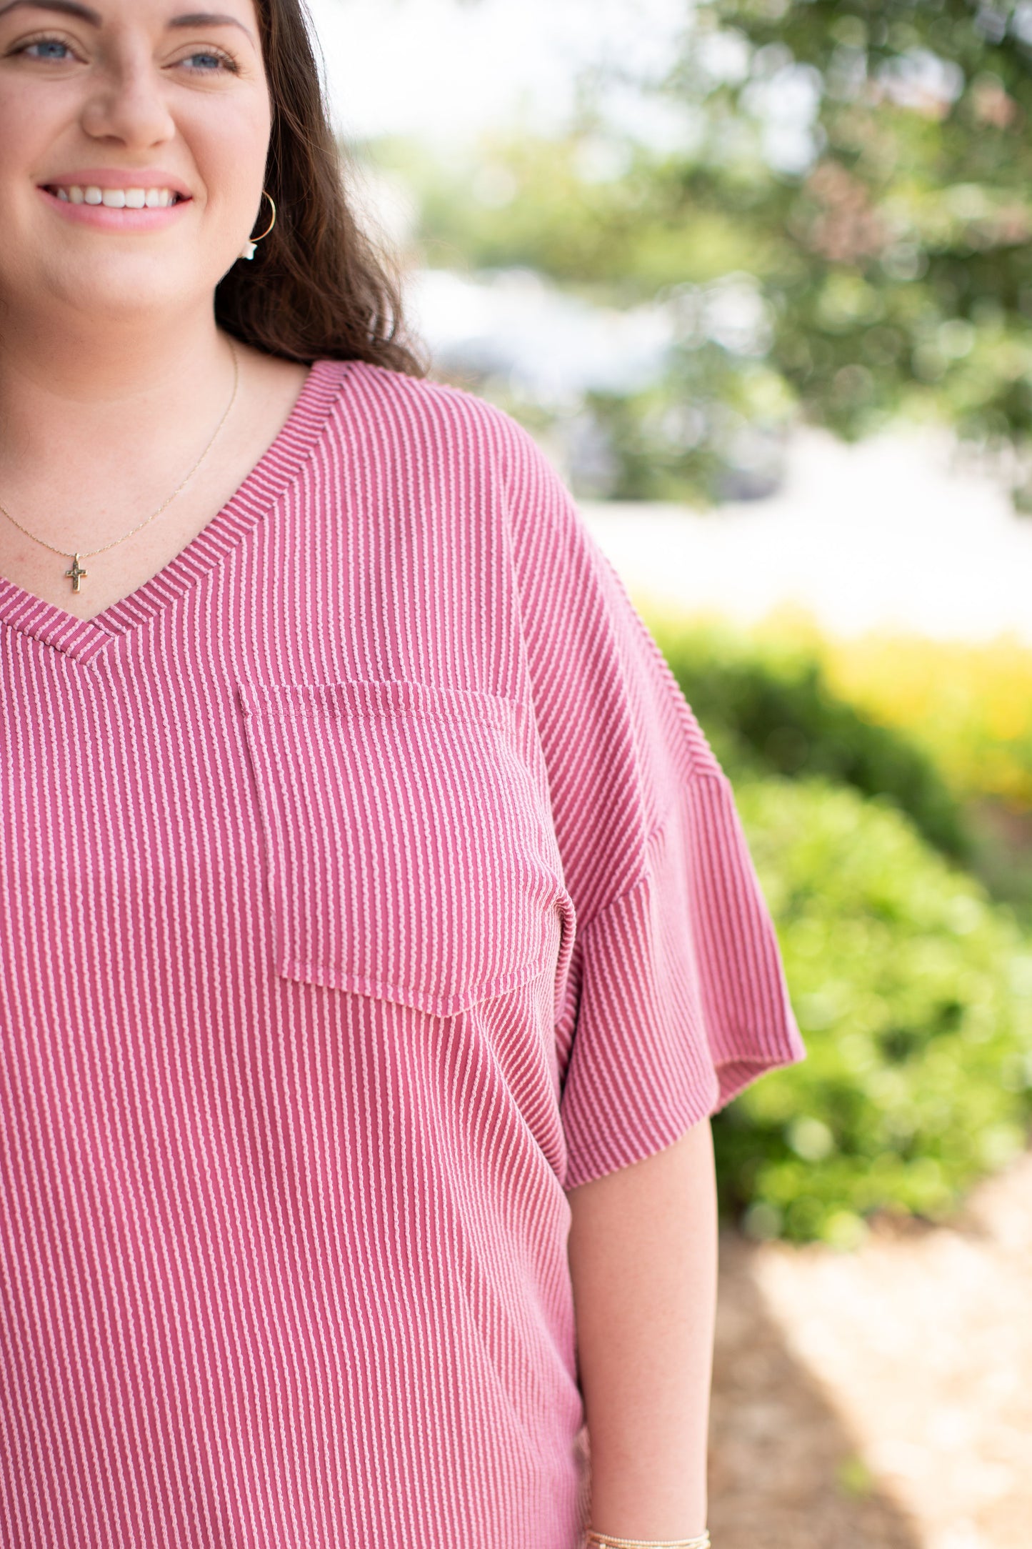
<path id="1" fill-rule="evenodd" d="M 1032 22 L 967 0 L 710 0 L 701 37 L 732 36 L 747 70 L 706 77 L 689 51 L 673 90 L 738 127 L 761 161 L 764 101 L 817 93 L 814 156 L 760 177 L 750 218 L 784 237 L 767 279 L 772 359 L 806 412 L 860 435 L 935 401 L 964 435 L 1032 432 Z M 707 164 L 719 183 L 713 144 Z"/>

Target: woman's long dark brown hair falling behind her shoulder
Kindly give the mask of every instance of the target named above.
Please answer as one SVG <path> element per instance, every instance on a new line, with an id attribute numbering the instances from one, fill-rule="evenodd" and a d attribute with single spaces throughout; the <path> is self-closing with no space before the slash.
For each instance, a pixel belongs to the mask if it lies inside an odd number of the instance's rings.
<path id="1" fill-rule="evenodd" d="M 255 9 L 272 99 L 265 186 L 277 220 L 254 262 L 234 263 L 217 287 L 215 318 L 268 355 L 371 361 L 424 376 L 399 277 L 345 197 L 302 0 L 255 0 Z M 261 200 L 263 225 L 268 211 Z"/>

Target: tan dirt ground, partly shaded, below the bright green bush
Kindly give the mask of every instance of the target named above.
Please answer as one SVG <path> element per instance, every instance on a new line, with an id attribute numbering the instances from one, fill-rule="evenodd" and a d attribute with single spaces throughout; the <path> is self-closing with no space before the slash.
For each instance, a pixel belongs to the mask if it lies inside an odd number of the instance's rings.
<path id="1" fill-rule="evenodd" d="M 854 1253 L 721 1233 L 713 1549 L 1032 1549 L 1032 1151 Z"/>

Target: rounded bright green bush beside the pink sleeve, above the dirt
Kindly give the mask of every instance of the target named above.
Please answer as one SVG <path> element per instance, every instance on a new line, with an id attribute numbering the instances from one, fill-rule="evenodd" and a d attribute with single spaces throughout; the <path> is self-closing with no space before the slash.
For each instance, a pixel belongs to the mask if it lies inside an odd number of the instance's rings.
<path id="1" fill-rule="evenodd" d="M 808 1060 L 713 1120 L 721 1210 L 843 1247 L 877 1210 L 945 1219 L 1032 1121 L 1032 943 L 882 799 L 736 785 Z"/>

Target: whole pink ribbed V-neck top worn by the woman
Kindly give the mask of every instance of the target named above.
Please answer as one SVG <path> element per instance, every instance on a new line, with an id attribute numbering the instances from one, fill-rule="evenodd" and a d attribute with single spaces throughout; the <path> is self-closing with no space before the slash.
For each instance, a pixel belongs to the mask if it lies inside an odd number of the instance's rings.
<path id="1" fill-rule="evenodd" d="M 0 581 L 0 1543 L 574 1549 L 565 1190 L 805 1056 L 534 443 L 319 362 L 159 575 Z"/>

